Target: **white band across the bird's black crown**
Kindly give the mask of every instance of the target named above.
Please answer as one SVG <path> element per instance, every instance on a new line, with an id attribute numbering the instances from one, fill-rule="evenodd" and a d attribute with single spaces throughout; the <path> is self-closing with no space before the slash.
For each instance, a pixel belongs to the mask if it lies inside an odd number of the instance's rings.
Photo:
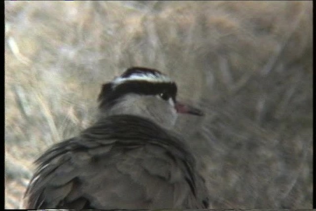
<path id="1" fill-rule="evenodd" d="M 135 73 L 130 75 L 127 78 L 117 77 L 112 81 L 113 88 L 115 88 L 119 84 L 124 84 L 127 81 L 143 81 L 143 82 L 151 82 L 151 83 L 168 83 L 172 82 L 171 79 L 165 75 L 161 74 L 153 74 L 153 73 Z"/>

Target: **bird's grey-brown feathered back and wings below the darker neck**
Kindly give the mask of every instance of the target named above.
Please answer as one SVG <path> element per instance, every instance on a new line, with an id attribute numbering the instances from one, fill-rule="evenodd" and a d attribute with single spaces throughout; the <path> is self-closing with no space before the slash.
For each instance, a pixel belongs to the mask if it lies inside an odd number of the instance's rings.
<path id="1" fill-rule="evenodd" d="M 25 195 L 27 209 L 203 208 L 194 172 L 167 146 L 73 138 L 38 163 Z"/>

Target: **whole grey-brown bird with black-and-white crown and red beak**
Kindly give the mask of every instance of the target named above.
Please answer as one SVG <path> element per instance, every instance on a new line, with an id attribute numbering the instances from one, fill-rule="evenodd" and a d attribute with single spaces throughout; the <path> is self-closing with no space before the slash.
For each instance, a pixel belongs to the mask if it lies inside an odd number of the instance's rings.
<path id="1" fill-rule="evenodd" d="M 103 84 L 95 123 L 36 160 L 24 208 L 208 208 L 197 159 L 172 130 L 178 115 L 203 113 L 176 97 L 176 83 L 146 67 Z"/>

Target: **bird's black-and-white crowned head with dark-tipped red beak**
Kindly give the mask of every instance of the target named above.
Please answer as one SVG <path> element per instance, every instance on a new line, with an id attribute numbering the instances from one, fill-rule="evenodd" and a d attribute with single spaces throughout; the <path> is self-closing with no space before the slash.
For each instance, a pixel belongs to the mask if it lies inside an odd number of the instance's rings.
<path id="1" fill-rule="evenodd" d="M 112 82 L 103 84 L 99 94 L 102 114 L 129 114 L 149 118 L 170 128 L 179 113 L 201 116 L 197 108 L 177 101 L 177 85 L 155 69 L 128 68 Z"/>

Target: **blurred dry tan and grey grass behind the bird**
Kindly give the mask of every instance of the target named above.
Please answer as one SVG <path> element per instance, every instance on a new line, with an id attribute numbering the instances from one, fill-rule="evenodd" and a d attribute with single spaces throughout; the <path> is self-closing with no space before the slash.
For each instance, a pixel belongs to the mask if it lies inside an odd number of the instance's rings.
<path id="1" fill-rule="evenodd" d="M 176 130 L 210 208 L 312 208 L 312 1 L 5 1 L 5 208 L 100 87 L 155 68 L 205 116 Z"/>

